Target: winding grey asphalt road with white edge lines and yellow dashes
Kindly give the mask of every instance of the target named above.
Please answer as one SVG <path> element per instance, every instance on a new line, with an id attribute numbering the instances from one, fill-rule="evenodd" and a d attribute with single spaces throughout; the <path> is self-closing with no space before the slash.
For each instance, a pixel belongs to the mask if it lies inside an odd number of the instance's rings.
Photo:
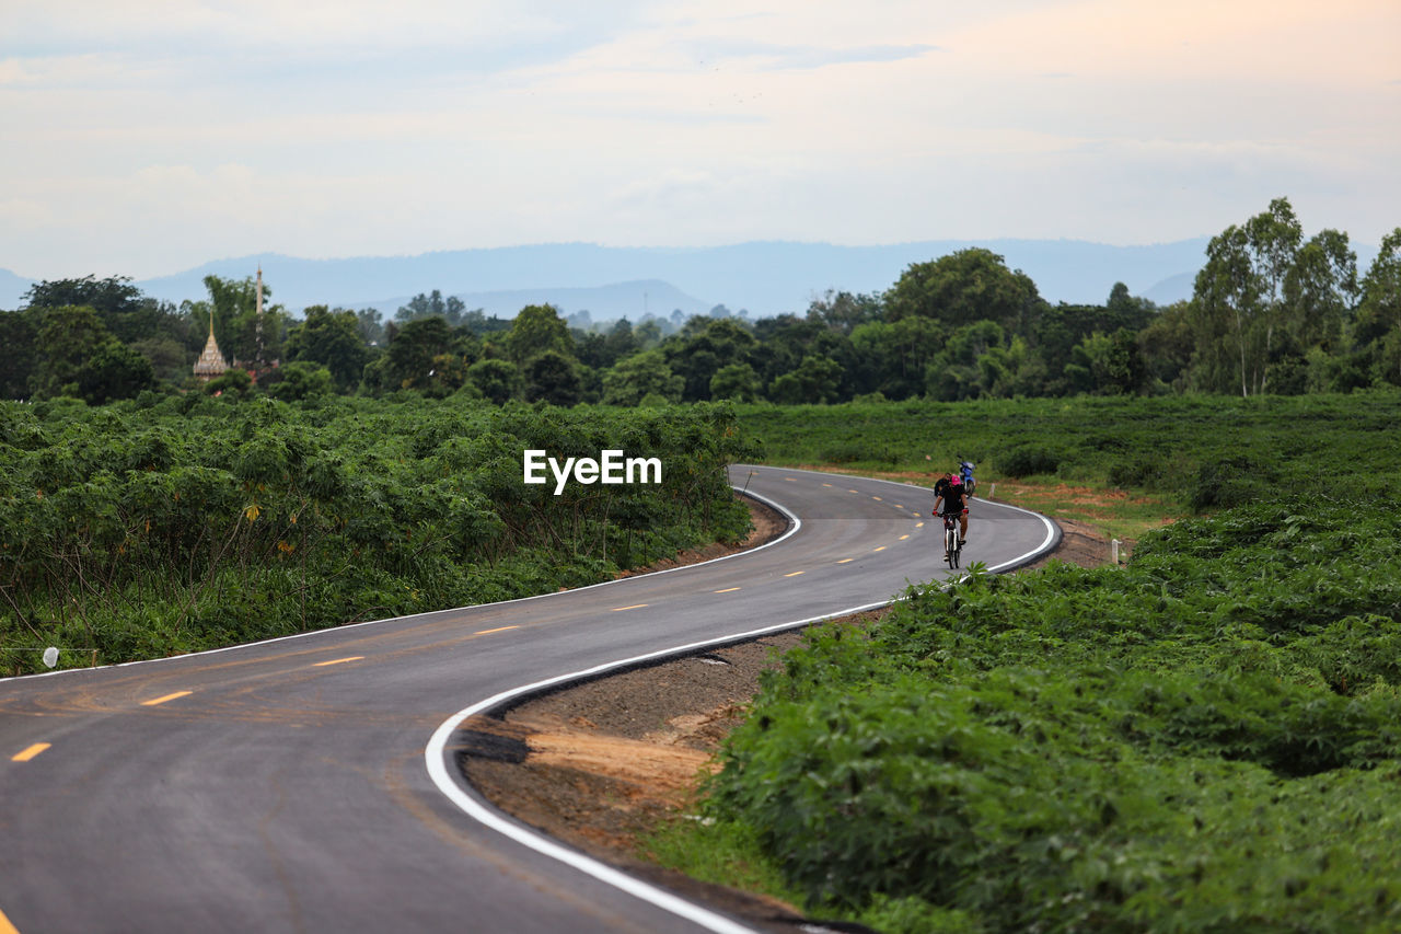
<path id="1" fill-rule="evenodd" d="M 745 930 L 539 839 L 453 769 L 455 724 L 524 687 L 944 572 L 927 489 L 731 481 L 800 523 L 566 593 L 0 680 L 0 934 Z M 1009 569 L 1058 539 L 1041 516 L 971 509 L 965 564 Z"/>

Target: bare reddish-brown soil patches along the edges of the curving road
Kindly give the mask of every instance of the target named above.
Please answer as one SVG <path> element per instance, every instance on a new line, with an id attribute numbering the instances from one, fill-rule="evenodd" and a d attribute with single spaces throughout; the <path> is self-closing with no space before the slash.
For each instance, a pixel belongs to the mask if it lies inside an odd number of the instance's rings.
<path id="1" fill-rule="evenodd" d="M 712 546 L 649 569 L 705 561 L 782 534 L 787 523 L 779 513 L 748 502 L 755 532 L 745 543 Z M 1058 524 L 1061 546 L 1033 569 L 1051 560 L 1108 562 L 1110 546 L 1091 526 Z M 883 613 L 848 621 L 860 625 Z M 504 718 L 475 717 L 464 724 L 469 739 L 462 767 L 497 808 L 604 862 L 737 914 L 758 930 L 800 930 L 811 920 L 793 906 L 696 882 L 639 853 L 639 840 L 686 812 L 699 778 L 715 767 L 720 740 L 758 690 L 759 672 L 800 639 L 800 631 L 768 635 L 552 691 Z"/>

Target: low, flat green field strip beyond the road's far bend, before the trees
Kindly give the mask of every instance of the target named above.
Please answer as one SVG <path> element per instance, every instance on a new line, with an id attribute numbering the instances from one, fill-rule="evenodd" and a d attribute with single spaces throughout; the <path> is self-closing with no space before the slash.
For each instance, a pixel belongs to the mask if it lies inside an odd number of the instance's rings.
<path id="1" fill-rule="evenodd" d="M 1100 482 L 1203 510 L 1276 489 L 1401 496 L 1401 393 L 1076 397 L 741 405 L 766 463 L 862 470 L 978 464 L 1002 478 Z M 932 460 L 929 460 L 932 459 Z"/>

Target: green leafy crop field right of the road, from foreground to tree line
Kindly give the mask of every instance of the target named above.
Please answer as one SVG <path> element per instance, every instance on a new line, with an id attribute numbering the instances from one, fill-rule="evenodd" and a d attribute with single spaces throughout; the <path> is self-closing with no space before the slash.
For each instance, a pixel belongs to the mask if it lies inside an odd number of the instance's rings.
<path id="1" fill-rule="evenodd" d="M 752 840 L 736 860 L 780 892 L 887 933 L 1401 930 L 1398 415 L 1395 394 L 745 411 L 786 463 L 841 438 L 920 468 L 947 438 L 1205 515 L 1126 567 L 975 571 L 811 630 L 671 861 Z"/>

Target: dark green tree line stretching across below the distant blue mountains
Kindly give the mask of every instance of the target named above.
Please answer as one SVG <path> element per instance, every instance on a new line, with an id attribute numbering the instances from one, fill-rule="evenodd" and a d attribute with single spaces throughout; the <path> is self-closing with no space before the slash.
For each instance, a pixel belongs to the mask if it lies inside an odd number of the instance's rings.
<path id="1" fill-rule="evenodd" d="M 1401 227 L 1365 272 L 1346 233 L 1304 238 L 1286 198 L 1206 248 L 1189 300 L 1159 307 L 1115 283 L 1104 304 L 1052 304 L 989 250 L 908 266 L 884 293 L 828 292 L 804 314 L 593 323 L 528 306 L 514 318 L 439 290 L 374 309 L 255 311 L 252 279 L 205 279 L 179 307 L 129 279 L 41 282 L 0 313 L 0 394 L 101 404 L 203 388 L 305 398 L 465 394 L 495 402 L 646 405 L 730 398 L 1059 397 L 1351 391 L 1401 386 Z M 270 297 L 270 289 L 265 289 Z M 233 365 L 199 384 L 210 330 Z"/>

